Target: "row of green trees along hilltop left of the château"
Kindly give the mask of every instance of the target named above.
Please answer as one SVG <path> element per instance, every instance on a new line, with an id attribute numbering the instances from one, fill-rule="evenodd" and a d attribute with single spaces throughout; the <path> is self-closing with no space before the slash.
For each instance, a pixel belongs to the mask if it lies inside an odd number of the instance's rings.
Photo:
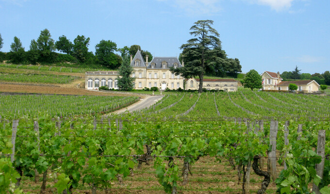
<path id="1" fill-rule="evenodd" d="M 137 49 L 141 50 L 139 45 L 125 46 L 117 48 L 115 42 L 111 40 L 101 40 L 95 46 L 95 54 L 88 51 L 89 37 L 78 35 L 73 42 L 62 35 L 57 41 L 51 38 L 48 29 L 40 32 L 39 37 L 31 40 L 30 48 L 25 51 L 18 37 L 14 37 L 14 42 L 10 46 L 10 52 L 0 52 L 0 62 L 8 61 L 13 64 L 61 64 L 62 66 L 70 67 L 95 67 L 117 69 L 124 56 L 135 55 Z M 0 49 L 3 46 L 3 39 L 0 34 Z M 61 51 L 58 53 L 55 51 Z M 120 53 L 117 54 L 117 53 Z M 64 53 L 64 54 L 63 54 Z M 146 60 L 146 55 L 149 60 L 152 60 L 152 55 L 147 50 L 141 50 L 142 55 Z"/>

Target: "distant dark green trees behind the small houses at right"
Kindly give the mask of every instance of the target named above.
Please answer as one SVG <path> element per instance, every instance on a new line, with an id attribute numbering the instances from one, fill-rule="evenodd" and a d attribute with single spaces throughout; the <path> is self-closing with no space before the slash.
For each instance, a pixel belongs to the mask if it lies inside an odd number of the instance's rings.
<path id="1" fill-rule="evenodd" d="M 284 71 L 281 74 L 283 81 L 292 81 L 292 80 L 314 80 L 318 84 L 330 85 L 330 72 L 325 71 L 324 73 L 300 73 L 301 70 L 296 68 L 293 71 Z"/>

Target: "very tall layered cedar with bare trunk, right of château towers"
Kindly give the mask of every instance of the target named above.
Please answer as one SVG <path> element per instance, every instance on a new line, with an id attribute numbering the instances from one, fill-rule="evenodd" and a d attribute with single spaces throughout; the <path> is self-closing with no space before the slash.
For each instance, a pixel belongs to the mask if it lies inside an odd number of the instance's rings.
<path id="1" fill-rule="evenodd" d="M 170 69 L 171 72 L 176 75 L 181 74 L 184 78 L 198 76 L 199 93 L 203 91 L 206 69 L 209 65 L 214 65 L 214 59 L 217 57 L 216 49 L 221 49 L 221 41 L 218 38 L 220 35 L 211 25 L 213 25 L 212 20 L 198 20 L 194 23 L 190 28 L 192 31 L 190 34 L 196 38 L 188 40 L 180 47 L 183 49 L 182 53 L 186 62 L 184 67 Z"/>

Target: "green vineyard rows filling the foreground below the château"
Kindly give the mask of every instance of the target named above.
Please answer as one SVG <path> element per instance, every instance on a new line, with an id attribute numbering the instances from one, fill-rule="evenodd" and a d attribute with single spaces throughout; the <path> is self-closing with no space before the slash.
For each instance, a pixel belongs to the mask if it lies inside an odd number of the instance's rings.
<path id="1" fill-rule="evenodd" d="M 330 193 L 328 96 L 174 93 L 106 116 L 137 98 L 0 99 L 7 193 Z"/>

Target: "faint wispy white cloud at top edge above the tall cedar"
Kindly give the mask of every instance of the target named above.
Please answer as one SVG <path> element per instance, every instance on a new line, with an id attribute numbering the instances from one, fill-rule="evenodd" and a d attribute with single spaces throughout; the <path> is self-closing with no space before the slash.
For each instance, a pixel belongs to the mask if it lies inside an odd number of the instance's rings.
<path id="1" fill-rule="evenodd" d="M 173 6 L 179 8 L 187 15 L 199 16 L 199 15 L 214 15 L 221 11 L 219 2 L 221 0 L 159 0 L 170 1 Z"/>

